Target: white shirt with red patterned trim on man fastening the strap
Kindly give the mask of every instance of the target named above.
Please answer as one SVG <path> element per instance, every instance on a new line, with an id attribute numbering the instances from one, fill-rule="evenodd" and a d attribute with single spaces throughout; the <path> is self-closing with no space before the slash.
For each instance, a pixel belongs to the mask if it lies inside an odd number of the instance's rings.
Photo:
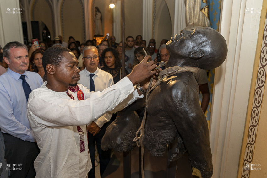
<path id="1" fill-rule="evenodd" d="M 89 92 L 83 85 L 78 85 L 84 100 L 78 101 L 70 90 L 68 92 L 75 100 L 66 92 L 52 91 L 46 87 L 46 82 L 30 93 L 27 114 L 40 148 L 34 161 L 37 178 L 85 178 L 92 165 L 87 139 L 84 139 L 85 151 L 80 153 L 76 126 L 81 127 L 87 138 L 86 124 L 108 111 L 120 111 L 143 97 L 127 77 L 102 92 Z"/>

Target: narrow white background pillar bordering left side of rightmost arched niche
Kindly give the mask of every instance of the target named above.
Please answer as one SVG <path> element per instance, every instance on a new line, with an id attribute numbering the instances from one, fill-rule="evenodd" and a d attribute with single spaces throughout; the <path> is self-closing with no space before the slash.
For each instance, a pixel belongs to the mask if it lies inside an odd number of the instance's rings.
<path id="1" fill-rule="evenodd" d="M 148 44 L 152 38 L 153 0 L 143 0 L 143 39 Z"/>

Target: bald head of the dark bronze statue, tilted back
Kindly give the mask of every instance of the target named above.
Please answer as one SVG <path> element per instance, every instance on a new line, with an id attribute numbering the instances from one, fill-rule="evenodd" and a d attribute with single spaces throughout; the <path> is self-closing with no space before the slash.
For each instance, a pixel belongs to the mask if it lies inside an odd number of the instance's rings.
<path id="1" fill-rule="evenodd" d="M 181 30 L 166 43 L 170 58 L 166 66 L 193 66 L 201 69 L 219 67 L 226 58 L 227 45 L 223 36 L 212 28 Z"/>

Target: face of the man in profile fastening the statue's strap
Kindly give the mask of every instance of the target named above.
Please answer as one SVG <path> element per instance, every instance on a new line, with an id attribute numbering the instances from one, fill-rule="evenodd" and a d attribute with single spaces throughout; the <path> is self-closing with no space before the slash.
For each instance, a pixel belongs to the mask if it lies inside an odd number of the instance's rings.
<path id="1" fill-rule="evenodd" d="M 54 79 L 58 85 L 76 86 L 80 79 L 79 62 L 72 52 L 64 52 L 63 59 L 58 66 L 54 66 Z"/>

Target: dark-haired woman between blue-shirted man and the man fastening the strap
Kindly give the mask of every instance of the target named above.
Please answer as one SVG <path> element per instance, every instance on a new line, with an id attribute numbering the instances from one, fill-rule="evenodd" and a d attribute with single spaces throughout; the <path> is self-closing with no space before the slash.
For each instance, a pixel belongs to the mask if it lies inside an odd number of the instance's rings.
<path id="1" fill-rule="evenodd" d="M 37 72 L 41 77 L 44 76 L 45 71 L 42 64 L 44 51 L 43 50 L 35 50 L 30 57 L 30 63 L 32 65 L 33 72 Z"/>

